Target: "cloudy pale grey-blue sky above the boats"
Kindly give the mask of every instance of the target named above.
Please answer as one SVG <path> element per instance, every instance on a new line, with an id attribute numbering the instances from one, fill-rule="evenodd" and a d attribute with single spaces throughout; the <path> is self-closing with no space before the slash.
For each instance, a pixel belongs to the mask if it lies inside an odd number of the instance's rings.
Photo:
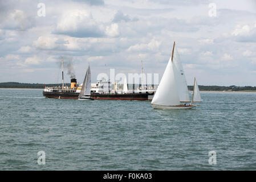
<path id="1" fill-rule="evenodd" d="M 161 78 L 174 41 L 188 85 L 256 86 L 255 0 L 0 0 L 0 82 L 61 82 L 61 57 L 65 82 Z"/>

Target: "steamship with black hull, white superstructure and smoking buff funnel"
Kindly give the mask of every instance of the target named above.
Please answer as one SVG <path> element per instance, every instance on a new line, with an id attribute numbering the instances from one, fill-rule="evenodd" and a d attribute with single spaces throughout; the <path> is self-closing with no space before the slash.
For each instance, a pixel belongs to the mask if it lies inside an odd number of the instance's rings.
<path id="1" fill-rule="evenodd" d="M 142 72 L 141 62 L 141 72 Z M 143 81 L 141 80 L 141 85 Z M 91 84 L 91 98 L 95 100 L 138 100 L 147 101 L 152 100 L 156 87 L 153 86 L 141 86 L 138 89 L 128 90 L 126 78 L 123 84 L 117 82 L 113 84 L 106 78 L 101 78 L 96 84 Z M 67 99 L 78 99 L 82 88 L 82 84 L 78 84 L 76 78 L 71 78 L 70 86 L 64 86 L 63 79 L 63 59 L 62 59 L 62 86 L 46 87 L 43 90 L 43 96 L 46 98 L 67 98 Z"/>

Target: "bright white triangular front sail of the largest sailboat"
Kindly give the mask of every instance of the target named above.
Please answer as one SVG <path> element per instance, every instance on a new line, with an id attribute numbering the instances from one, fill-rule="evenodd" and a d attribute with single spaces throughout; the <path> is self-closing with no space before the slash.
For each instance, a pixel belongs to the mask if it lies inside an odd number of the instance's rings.
<path id="1" fill-rule="evenodd" d="M 151 104 L 162 106 L 180 105 L 180 98 L 178 96 L 171 58 L 165 68 L 164 75 L 162 75 L 160 84 Z"/>

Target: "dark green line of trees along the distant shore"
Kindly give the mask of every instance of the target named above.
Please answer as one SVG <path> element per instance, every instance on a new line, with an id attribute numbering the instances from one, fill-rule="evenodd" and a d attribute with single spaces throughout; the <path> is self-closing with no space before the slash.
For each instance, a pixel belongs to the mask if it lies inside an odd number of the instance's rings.
<path id="1" fill-rule="evenodd" d="M 61 86 L 62 84 L 27 84 L 19 82 L 3 82 L 0 83 L 0 88 L 31 88 L 31 89 L 43 89 L 44 86 Z M 70 86 L 70 84 L 67 84 Z M 131 85 L 129 85 L 131 86 Z M 135 85 L 133 88 L 137 88 L 140 85 Z M 198 86 L 201 91 L 256 91 L 256 86 Z M 130 87 L 129 87 L 130 88 Z M 132 88 L 132 87 L 131 87 Z M 193 86 L 188 86 L 189 90 L 193 90 Z"/>

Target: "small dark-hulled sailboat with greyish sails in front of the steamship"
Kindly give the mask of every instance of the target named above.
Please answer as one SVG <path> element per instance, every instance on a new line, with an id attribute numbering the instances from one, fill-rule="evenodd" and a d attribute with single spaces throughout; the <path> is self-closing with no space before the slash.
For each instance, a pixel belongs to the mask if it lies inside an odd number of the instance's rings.
<path id="1" fill-rule="evenodd" d="M 82 89 L 78 96 L 78 100 L 94 100 L 91 98 L 91 69 L 90 65 L 88 65 L 86 76 L 84 77 L 84 82 L 82 85 Z"/>

